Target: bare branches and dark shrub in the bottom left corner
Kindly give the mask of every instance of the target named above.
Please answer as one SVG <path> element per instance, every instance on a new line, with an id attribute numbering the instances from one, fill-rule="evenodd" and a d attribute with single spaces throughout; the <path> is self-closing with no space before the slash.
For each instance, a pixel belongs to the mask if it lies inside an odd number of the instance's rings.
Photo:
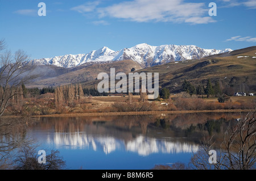
<path id="1" fill-rule="evenodd" d="M 47 151 L 46 164 L 38 162 L 38 150 L 34 138 L 26 136 L 27 128 L 38 119 L 0 119 L 0 169 L 56 170 L 65 167 L 59 151 Z"/>

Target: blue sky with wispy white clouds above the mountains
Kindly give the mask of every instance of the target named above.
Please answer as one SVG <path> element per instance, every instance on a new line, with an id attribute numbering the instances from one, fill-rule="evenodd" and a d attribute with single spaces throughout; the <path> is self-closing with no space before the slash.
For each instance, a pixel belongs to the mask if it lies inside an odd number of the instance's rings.
<path id="1" fill-rule="evenodd" d="M 210 2 L 217 16 L 209 16 Z M 2 38 L 31 58 L 141 43 L 240 49 L 256 45 L 256 0 L 0 0 Z"/>

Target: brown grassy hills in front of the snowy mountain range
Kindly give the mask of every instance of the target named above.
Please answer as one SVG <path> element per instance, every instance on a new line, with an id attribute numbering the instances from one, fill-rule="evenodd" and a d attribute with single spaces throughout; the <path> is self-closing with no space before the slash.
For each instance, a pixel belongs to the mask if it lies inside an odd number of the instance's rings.
<path id="1" fill-rule="evenodd" d="M 167 87 L 171 92 L 179 92 L 184 79 L 198 86 L 206 84 L 210 78 L 214 83 L 222 80 L 225 89 L 240 91 L 240 87 L 256 90 L 255 79 L 256 46 L 237 49 L 229 53 L 216 54 L 200 60 L 168 62 L 142 68 L 133 60 L 88 62 L 73 68 L 60 68 L 53 65 L 36 66 L 35 73 L 40 77 L 27 84 L 27 87 L 61 86 L 69 83 L 81 83 L 83 87 L 95 87 L 97 75 L 101 72 L 110 73 L 110 68 L 116 72 L 159 73 L 159 88 Z"/>

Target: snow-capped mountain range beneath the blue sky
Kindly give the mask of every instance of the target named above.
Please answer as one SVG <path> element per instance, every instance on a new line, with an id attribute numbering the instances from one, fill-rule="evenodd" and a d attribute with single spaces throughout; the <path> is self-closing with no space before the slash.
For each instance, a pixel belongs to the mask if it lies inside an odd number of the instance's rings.
<path id="1" fill-rule="evenodd" d="M 52 58 L 41 58 L 31 60 L 34 65 L 55 65 L 64 68 L 72 68 L 88 62 L 109 62 L 119 60 L 133 60 L 142 67 L 161 65 L 172 61 L 184 61 L 200 59 L 213 54 L 230 52 L 232 49 L 203 49 L 195 45 L 160 45 L 151 46 L 148 44 L 138 44 L 131 48 L 123 48 L 114 51 L 108 47 L 86 54 L 66 54 Z"/>

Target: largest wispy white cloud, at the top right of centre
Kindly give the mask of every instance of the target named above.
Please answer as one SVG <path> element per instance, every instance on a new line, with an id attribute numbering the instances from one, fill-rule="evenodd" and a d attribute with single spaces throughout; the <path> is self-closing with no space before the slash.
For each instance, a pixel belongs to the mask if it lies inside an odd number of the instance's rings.
<path id="1" fill-rule="evenodd" d="M 133 0 L 97 9 L 100 17 L 128 19 L 134 22 L 211 23 L 205 3 L 187 3 L 183 0 Z"/>

